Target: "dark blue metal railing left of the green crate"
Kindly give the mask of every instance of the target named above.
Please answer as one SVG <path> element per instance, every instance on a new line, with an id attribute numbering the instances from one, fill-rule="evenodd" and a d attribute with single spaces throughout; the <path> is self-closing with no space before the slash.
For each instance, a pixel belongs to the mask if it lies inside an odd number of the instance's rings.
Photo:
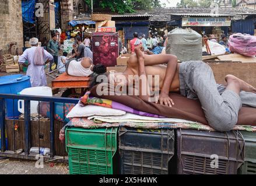
<path id="1" fill-rule="evenodd" d="M 24 153 L 22 155 L 17 155 L 15 152 L 6 151 L 6 100 L 13 101 L 13 112 L 15 100 L 24 101 Z M 16 95 L 16 94 L 0 94 L 0 130 L 1 130 L 1 151 L 0 156 L 5 156 L 8 158 L 21 158 L 21 159 L 35 159 L 35 156 L 30 155 L 31 148 L 31 119 L 30 119 L 30 101 L 48 102 L 50 105 L 50 157 L 47 159 L 55 158 L 55 147 L 54 147 L 54 120 L 55 120 L 55 103 L 63 103 L 63 117 L 65 119 L 65 104 L 78 103 L 79 99 L 75 98 L 57 98 L 57 97 L 47 97 L 47 96 L 30 96 L 30 95 Z M 38 106 L 38 124 L 40 124 L 40 105 Z M 13 117 L 13 120 L 16 120 Z M 13 121 L 14 124 L 14 121 Z M 40 126 L 40 125 L 38 125 Z M 15 130 L 15 128 L 13 128 Z M 38 128 L 40 130 L 40 127 Z M 40 135 L 38 135 L 40 138 Z M 15 140 L 15 138 L 14 138 Z M 38 141 L 40 141 L 38 139 Z M 9 145 L 8 145 L 9 146 Z M 43 147 L 42 147 L 43 148 Z M 40 153 L 40 144 L 38 146 Z"/>

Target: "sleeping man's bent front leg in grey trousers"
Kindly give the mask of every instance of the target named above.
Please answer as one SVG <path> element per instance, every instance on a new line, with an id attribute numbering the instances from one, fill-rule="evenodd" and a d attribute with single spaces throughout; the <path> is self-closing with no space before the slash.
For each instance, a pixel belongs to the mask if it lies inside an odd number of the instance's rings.
<path id="1" fill-rule="evenodd" d="M 218 131 L 232 130 L 241 108 L 239 82 L 227 78 L 227 88 L 220 95 L 211 67 L 201 62 L 191 69 L 191 81 L 192 91 L 197 94 L 209 125 Z"/>

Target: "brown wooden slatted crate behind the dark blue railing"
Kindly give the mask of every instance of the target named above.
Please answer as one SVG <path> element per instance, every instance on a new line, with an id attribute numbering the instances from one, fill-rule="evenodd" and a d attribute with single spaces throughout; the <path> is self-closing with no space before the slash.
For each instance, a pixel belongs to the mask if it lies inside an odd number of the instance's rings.
<path id="1" fill-rule="evenodd" d="M 14 125 L 17 124 L 18 130 L 14 130 Z M 24 120 L 6 120 L 6 135 L 8 140 L 8 150 L 14 151 L 14 149 L 24 150 Z M 64 127 L 64 123 L 61 121 L 54 121 L 54 146 L 55 155 L 57 156 L 67 156 L 65 149 L 65 141 L 59 140 L 59 131 Z M 38 134 L 38 131 L 39 134 Z M 38 139 L 39 137 L 39 139 Z M 50 121 L 31 121 L 31 147 L 50 148 Z"/>

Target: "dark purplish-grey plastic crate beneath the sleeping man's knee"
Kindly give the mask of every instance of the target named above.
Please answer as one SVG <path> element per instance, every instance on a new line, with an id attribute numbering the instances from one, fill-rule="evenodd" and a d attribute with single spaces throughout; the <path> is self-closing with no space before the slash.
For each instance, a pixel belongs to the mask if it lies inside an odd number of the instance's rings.
<path id="1" fill-rule="evenodd" d="M 177 130 L 178 174 L 237 174 L 243 162 L 244 140 L 239 131 Z"/>

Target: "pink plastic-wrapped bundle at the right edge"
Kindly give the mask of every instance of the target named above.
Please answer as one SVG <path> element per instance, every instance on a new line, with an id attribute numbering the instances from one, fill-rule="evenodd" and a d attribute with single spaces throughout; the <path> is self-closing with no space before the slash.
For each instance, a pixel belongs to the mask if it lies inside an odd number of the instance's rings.
<path id="1" fill-rule="evenodd" d="M 256 56 L 256 37 L 249 34 L 233 34 L 229 37 L 229 50 L 244 56 Z"/>

